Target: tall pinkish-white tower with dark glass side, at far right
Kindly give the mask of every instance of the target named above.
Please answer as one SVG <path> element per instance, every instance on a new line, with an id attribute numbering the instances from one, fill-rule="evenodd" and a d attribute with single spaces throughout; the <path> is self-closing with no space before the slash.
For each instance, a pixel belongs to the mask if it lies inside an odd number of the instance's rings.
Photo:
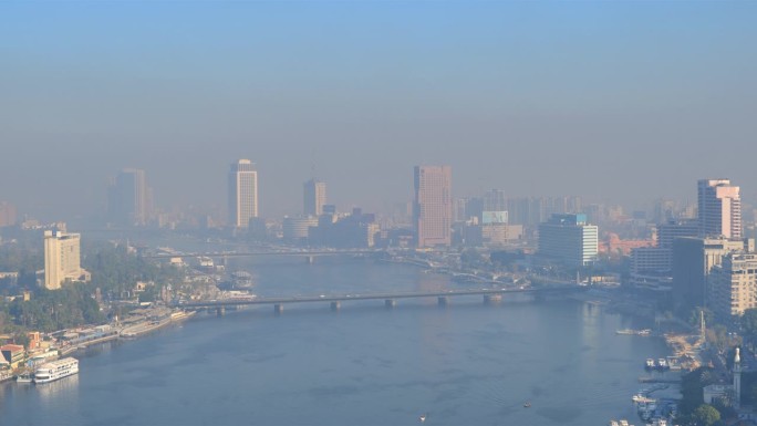
<path id="1" fill-rule="evenodd" d="M 697 199 L 701 237 L 742 238 L 739 187 L 729 179 L 701 179 Z"/>

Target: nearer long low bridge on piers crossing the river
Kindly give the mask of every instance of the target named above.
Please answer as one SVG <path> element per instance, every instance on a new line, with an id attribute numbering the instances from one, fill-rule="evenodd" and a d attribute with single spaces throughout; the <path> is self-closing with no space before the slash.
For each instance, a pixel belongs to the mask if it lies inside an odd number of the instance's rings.
<path id="1" fill-rule="evenodd" d="M 290 303 L 330 303 L 331 309 L 336 311 L 341 308 L 341 303 L 352 300 L 384 300 L 386 308 L 396 305 L 400 299 L 419 299 L 419 298 L 437 298 L 439 305 L 446 305 L 449 298 L 462 295 L 483 295 L 485 303 L 492 303 L 501 301 L 505 294 L 549 294 L 549 293 L 572 293 L 587 290 L 585 285 L 566 284 L 560 287 L 545 287 L 545 288 L 528 288 L 528 289 L 475 289 L 475 290 L 437 290 L 437 291 L 417 291 L 417 292 L 388 292 L 388 293 L 369 293 L 369 294 L 320 294 L 320 295 L 294 295 L 281 298 L 253 298 L 253 299 L 224 299 L 224 300 L 204 300 L 191 301 L 187 303 L 175 303 L 173 308 L 183 309 L 199 309 L 208 308 L 216 309 L 219 314 L 224 312 L 227 306 L 239 306 L 248 304 L 272 304 L 277 313 L 283 311 L 284 304 Z"/>

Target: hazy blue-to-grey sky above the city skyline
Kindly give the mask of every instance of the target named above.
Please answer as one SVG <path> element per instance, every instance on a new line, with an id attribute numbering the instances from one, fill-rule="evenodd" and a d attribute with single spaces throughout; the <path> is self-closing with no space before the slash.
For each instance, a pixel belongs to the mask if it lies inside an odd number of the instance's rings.
<path id="1" fill-rule="evenodd" d="M 757 2 L 0 1 L 0 200 L 104 205 L 123 167 L 156 205 L 260 208 L 502 188 L 640 202 L 697 178 L 757 194 Z"/>

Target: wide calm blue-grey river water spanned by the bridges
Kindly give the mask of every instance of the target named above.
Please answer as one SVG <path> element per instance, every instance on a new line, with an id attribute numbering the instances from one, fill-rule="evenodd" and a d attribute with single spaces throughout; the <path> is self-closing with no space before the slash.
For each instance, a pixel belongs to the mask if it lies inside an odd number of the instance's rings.
<path id="1" fill-rule="evenodd" d="M 235 260 L 259 295 L 454 289 L 448 277 L 361 259 Z M 655 337 L 574 300 L 480 297 L 199 313 L 135 341 L 79 353 L 80 374 L 0 385 L 2 425 L 606 425 Z M 523 404 L 529 402 L 530 407 Z"/>

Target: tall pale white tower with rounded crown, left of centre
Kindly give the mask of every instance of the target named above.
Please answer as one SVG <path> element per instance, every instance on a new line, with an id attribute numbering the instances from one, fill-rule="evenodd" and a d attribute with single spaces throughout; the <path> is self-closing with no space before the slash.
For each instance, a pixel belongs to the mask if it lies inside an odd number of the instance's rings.
<path id="1" fill-rule="evenodd" d="M 229 225 L 247 228 L 257 217 L 258 172 L 249 159 L 240 159 L 229 169 Z"/>

